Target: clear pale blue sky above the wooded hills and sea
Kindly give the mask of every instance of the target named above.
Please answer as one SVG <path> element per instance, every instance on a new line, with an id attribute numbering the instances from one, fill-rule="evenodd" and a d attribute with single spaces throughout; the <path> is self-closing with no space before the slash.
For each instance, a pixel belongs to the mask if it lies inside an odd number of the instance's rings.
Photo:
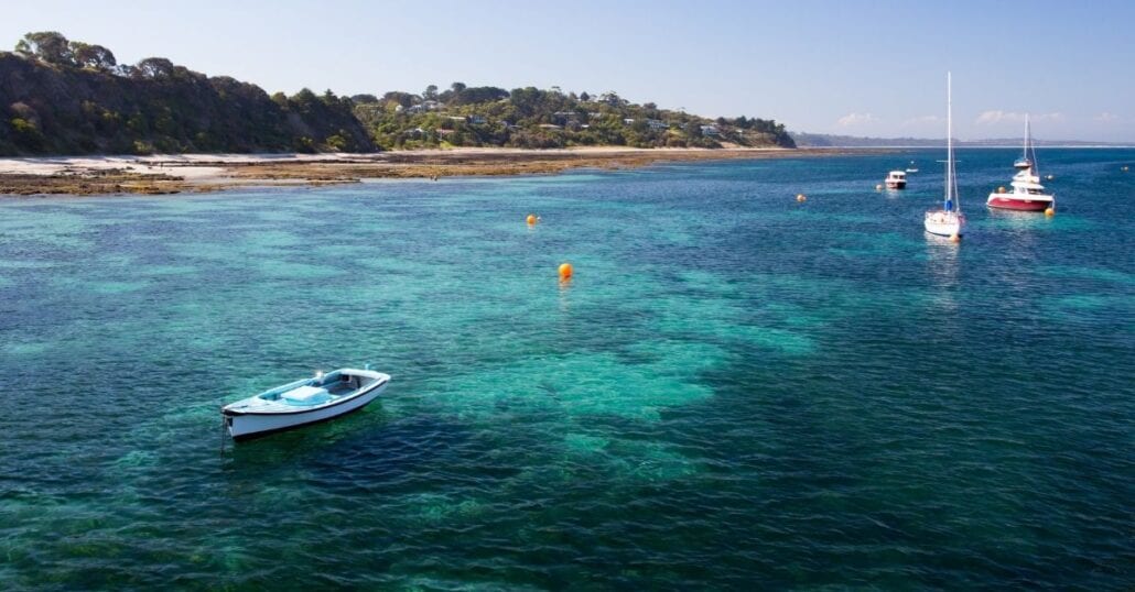
<path id="1" fill-rule="evenodd" d="M 230 6 L 232 5 L 232 6 Z M 268 92 L 454 81 L 616 91 L 789 129 L 1135 142 L 1135 1 L 39 1 L 0 44 L 59 31 Z"/>

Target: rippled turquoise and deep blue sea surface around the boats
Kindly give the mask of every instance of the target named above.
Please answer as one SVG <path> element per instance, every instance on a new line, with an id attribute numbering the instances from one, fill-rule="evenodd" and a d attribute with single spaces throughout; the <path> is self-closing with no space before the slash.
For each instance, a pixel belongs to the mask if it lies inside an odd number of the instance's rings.
<path id="1" fill-rule="evenodd" d="M 0 200 L 0 589 L 1130 590 L 1135 151 L 943 152 Z"/>

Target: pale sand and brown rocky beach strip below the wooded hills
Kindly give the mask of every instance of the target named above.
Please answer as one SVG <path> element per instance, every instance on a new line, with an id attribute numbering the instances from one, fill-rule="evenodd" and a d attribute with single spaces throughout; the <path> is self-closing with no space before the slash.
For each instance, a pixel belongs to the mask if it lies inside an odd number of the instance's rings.
<path id="1" fill-rule="evenodd" d="M 373 154 L 157 154 L 0 159 L 0 196 L 161 195 L 373 178 L 553 175 L 661 162 L 815 158 L 880 149 L 477 149 Z"/>

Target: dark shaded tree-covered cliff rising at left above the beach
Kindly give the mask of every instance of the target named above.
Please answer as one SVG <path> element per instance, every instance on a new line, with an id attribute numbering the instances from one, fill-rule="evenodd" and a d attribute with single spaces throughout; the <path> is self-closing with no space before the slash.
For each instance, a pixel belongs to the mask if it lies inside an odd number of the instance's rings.
<path id="1" fill-rule="evenodd" d="M 330 91 L 270 98 L 167 58 L 119 65 L 57 32 L 0 52 L 0 155 L 371 151 L 353 109 Z"/>

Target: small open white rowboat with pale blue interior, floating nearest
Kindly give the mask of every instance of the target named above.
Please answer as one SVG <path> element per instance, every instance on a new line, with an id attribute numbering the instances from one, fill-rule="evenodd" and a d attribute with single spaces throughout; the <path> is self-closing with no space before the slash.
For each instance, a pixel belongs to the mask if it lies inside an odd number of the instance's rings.
<path id="1" fill-rule="evenodd" d="M 220 412 L 229 435 L 244 440 L 359 411 L 389 382 L 389 374 L 345 367 L 230 403 Z"/>

